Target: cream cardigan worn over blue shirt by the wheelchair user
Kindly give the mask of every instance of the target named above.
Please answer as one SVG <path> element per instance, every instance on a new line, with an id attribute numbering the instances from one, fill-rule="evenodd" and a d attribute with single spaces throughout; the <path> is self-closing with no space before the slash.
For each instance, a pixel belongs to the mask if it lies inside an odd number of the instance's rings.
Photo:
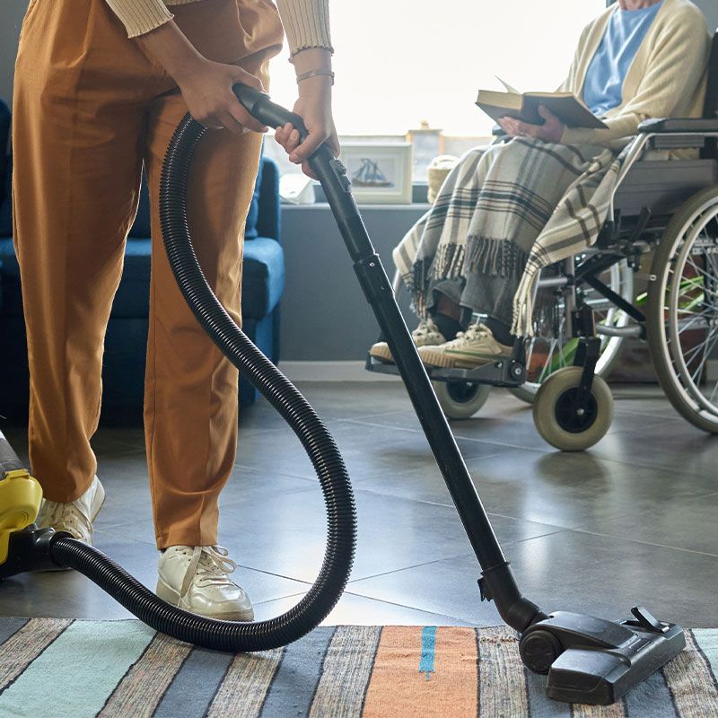
<path id="1" fill-rule="evenodd" d="M 560 90 L 582 97 L 591 59 L 617 4 L 582 32 L 574 63 Z M 563 144 L 601 144 L 619 149 L 650 118 L 699 118 L 705 100 L 710 33 L 704 14 L 689 0 L 664 0 L 626 74 L 623 102 L 604 118 L 608 129 L 566 127 Z"/>

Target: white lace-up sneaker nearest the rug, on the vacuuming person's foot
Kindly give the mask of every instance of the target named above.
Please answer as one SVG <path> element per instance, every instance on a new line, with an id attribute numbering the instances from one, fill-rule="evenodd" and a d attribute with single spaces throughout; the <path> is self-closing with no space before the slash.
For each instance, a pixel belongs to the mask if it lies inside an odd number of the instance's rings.
<path id="1" fill-rule="evenodd" d="M 200 616 L 251 621 L 250 597 L 227 575 L 235 568 L 221 546 L 168 547 L 160 554 L 157 595 Z"/>

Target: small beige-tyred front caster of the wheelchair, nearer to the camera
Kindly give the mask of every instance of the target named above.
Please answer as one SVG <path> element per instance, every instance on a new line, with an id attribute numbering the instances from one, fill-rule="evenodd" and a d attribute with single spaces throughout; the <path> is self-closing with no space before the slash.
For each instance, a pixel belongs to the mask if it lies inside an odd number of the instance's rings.
<path id="1" fill-rule="evenodd" d="M 561 451 L 583 451 L 600 442 L 613 420 L 609 385 L 595 376 L 588 407 L 576 410 L 575 396 L 581 382 L 581 366 L 554 372 L 536 392 L 533 421 L 538 433 Z"/>

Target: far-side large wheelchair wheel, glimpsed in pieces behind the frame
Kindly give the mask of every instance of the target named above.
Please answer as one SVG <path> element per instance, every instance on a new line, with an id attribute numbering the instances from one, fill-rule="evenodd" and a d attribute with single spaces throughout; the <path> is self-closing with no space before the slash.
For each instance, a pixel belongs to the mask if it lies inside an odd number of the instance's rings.
<path id="1" fill-rule="evenodd" d="M 600 275 L 601 281 L 619 294 L 626 302 L 634 301 L 634 274 L 628 267 L 626 260 L 617 262 Z M 616 305 L 601 296 L 591 287 L 583 292 L 583 301 L 596 312 L 597 325 L 613 328 L 626 327 L 630 318 L 626 312 L 619 310 Z M 526 346 L 526 374 L 527 381 L 511 389 L 512 394 L 532 404 L 541 384 L 554 372 L 571 366 L 574 363 L 574 354 L 578 346 L 578 339 L 567 338 L 564 335 L 565 308 L 563 302 L 558 305 L 558 330 L 542 332 L 538 327 L 537 336 L 531 337 Z M 616 365 L 620 354 L 623 337 L 601 337 L 600 356 L 596 364 L 596 373 L 606 377 Z"/>

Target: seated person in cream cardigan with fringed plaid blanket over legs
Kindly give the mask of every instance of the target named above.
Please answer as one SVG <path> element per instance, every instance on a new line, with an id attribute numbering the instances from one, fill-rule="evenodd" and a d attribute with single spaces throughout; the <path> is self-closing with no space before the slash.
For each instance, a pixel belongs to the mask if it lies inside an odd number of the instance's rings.
<path id="1" fill-rule="evenodd" d="M 559 88 L 606 128 L 566 127 L 540 108 L 544 124 L 503 118 L 510 142 L 461 158 L 394 251 L 427 365 L 473 368 L 510 355 L 514 336 L 530 333 L 531 280 L 595 241 L 617 153 L 638 125 L 701 116 L 709 51 L 705 18 L 689 0 L 618 0 L 584 29 Z M 467 328 L 472 314 L 485 319 Z M 391 361 L 384 342 L 370 353 Z"/>

